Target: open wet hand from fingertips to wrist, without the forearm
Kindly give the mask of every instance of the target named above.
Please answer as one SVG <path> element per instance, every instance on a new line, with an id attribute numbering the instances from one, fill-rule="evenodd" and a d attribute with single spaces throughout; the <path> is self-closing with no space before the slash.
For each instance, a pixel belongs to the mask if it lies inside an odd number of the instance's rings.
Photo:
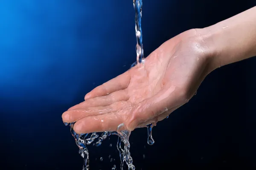
<path id="1" fill-rule="evenodd" d="M 96 87 L 62 115 L 77 133 L 122 130 L 163 120 L 195 94 L 209 73 L 209 49 L 196 30 L 152 52 L 145 63 Z"/>

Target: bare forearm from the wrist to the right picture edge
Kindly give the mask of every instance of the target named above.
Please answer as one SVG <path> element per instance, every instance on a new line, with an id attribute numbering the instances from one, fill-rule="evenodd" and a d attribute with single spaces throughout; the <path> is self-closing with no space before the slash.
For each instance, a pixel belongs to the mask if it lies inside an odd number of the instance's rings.
<path id="1" fill-rule="evenodd" d="M 256 56 L 256 7 L 204 29 L 213 69 Z"/>

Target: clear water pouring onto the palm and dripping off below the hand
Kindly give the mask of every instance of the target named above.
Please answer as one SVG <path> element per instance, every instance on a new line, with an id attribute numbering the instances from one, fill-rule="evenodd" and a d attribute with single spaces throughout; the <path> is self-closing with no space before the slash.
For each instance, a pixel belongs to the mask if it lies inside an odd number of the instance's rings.
<path id="1" fill-rule="evenodd" d="M 134 62 L 131 67 L 134 67 L 137 64 L 144 64 L 144 56 L 143 56 L 143 41 L 142 41 L 142 28 L 141 28 L 141 17 L 142 17 L 142 0 L 133 0 L 134 10 L 135 10 L 135 33 L 137 38 L 136 44 L 136 53 L 137 53 L 137 61 Z M 75 123 L 75 122 L 74 122 Z M 76 145 L 79 147 L 79 154 L 84 158 L 83 170 L 89 170 L 89 152 L 86 147 L 87 144 L 91 144 L 94 142 L 96 138 L 99 137 L 96 132 L 91 133 L 91 136 L 86 139 L 88 133 L 86 134 L 77 134 L 73 130 L 74 123 L 64 123 L 66 126 L 70 125 L 70 132 L 72 136 L 75 138 Z M 121 124 L 122 126 L 123 124 Z M 119 125 L 120 126 L 120 125 Z M 152 138 L 152 127 L 153 125 L 148 125 L 148 144 L 154 144 L 154 139 Z M 118 128 L 119 129 L 119 128 Z M 110 135 L 117 135 L 117 149 L 119 150 L 119 156 L 121 160 L 121 170 L 123 170 L 124 162 L 128 165 L 128 170 L 135 170 L 135 166 L 133 165 L 133 160 L 130 154 L 130 143 L 129 136 L 131 131 L 127 130 L 117 130 L 116 132 L 103 132 L 101 137 L 99 137 L 98 142 L 96 142 L 95 146 L 100 146 L 102 141 L 105 140 Z M 121 144 L 124 143 L 124 147 L 122 148 Z M 102 160 L 102 158 L 101 158 Z M 112 170 L 116 169 L 116 165 L 112 168 Z"/>

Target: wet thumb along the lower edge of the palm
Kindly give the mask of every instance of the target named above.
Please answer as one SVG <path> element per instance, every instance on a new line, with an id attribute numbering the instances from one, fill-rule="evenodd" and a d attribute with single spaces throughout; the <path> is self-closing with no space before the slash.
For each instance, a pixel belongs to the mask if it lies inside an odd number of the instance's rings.
<path id="1" fill-rule="evenodd" d="M 134 130 L 140 122 L 146 122 L 164 113 L 166 108 L 171 110 L 183 103 L 183 93 L 180 88 L 173 85 L 165 85 L 161 91 L 140 102 L 129 115 L 126 126 L 128 130 Z"/>

